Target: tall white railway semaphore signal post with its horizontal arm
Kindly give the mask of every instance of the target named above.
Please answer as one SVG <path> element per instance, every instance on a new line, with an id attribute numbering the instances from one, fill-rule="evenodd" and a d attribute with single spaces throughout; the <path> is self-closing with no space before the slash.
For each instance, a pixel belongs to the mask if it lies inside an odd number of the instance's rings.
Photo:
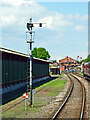
<path id="1" fill-rule="evenodd" d="M 30 41 L 27 41 L 27 43 L 30 44 L 30 106 L 33 105 L 33 99 L 32 99 L 32 28 L 33 27 L 46 27 L 46 23 L 33 23 L 32 18 L 30 18 L 30 22 L 27 23 L 27 29 L 30 33 Z"/>

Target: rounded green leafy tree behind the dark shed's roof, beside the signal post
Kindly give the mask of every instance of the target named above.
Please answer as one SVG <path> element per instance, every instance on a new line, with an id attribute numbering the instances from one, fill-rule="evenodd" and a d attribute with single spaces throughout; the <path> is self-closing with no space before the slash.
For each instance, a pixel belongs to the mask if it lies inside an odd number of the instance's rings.
<path id="1" fill-rule="evenodd" d="M 43 47 L 34 48 L 32 51 L 32 56 L 44 60 L 48 60 L 50 58 L 48 51 L 46 51 Z"/>

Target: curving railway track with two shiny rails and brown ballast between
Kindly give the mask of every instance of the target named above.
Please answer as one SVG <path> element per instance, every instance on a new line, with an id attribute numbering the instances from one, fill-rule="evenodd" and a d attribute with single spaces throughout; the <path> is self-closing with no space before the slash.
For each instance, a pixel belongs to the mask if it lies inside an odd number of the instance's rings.
<path id="1" fill-rule="evenodd" d="M 72 82 L 71 89 L 52 120 L 60 118 L 77 118 L 82 120 L 85 108 L 85 87 L 75 76 L 67 75 Z"/>

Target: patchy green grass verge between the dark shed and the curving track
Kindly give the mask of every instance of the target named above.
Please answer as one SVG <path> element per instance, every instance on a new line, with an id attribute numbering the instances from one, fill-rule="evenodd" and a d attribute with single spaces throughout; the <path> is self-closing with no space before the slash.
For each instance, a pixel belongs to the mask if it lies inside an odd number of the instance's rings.
<path id="1" fill-rule="evenodd" d="M 3 118 L 35 118 L 37 113 L 40 113 L 40 109 L 50 103 L 53 97 L 62 91 L 66 80 L 60 80 L 59 78 L 54 79 L 48 83 L 37 87 L 35 90 L 43 89 L 35 94 L 34 106 L 30 107 L 29 102 L 27 102 L 27 111 L 25 111 L 25 103 L 22 102 L 11 108 L 10 110 L 2 113 Z M 23 99 L 23 96 L 21 96 Z M 18 99 L 17 99 L 18 100 Z M 15 101 L 16 102 L 16 101 Z"/>

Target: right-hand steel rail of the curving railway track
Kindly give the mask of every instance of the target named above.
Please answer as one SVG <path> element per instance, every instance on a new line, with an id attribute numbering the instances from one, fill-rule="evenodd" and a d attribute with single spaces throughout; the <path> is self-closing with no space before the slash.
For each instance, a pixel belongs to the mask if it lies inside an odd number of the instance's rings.
<path id="1" fill-rule="evenodd" d="M 82 101 L 82 110 L 81 110 L 81 114 L 80 114 L 80 120 L 83 119 L 83 115 L 84 115 L 84 108 L 85 108 L 85 87 L 83 85 L 83 83 L 77 78 L 75 77 L 74 75 L 70 74 L 72 77 L 74 77 L 75 79 L 77 79 L 79 81 L 79 83 L 81 84 L 82 86 L 82 92 L 83 92 L 83 101 Z"/>

